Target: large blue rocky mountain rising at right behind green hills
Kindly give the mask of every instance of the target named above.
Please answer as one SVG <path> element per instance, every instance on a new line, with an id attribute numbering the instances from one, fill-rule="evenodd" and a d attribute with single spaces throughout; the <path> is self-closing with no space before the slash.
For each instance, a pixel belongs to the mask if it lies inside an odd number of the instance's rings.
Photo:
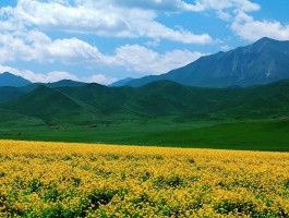
<path id="1" fill-rule="evenodd" d="M 251 86 L 289 78 L 289 41 L 262 38 L 253 45 L 202 57 L 166 74 L 145 76 L 124 85 L 169 80 L 198 87 Z"/>

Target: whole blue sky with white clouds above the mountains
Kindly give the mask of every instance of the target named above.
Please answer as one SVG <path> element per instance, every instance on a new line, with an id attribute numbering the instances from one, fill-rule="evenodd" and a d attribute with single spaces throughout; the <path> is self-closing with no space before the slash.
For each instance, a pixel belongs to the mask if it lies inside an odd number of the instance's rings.
<path id="1" fill-rule="evenodd" d="M 0 0 L 0 73 L 111 84 L 262 37 L 289 40 L 289 0 Z"/>

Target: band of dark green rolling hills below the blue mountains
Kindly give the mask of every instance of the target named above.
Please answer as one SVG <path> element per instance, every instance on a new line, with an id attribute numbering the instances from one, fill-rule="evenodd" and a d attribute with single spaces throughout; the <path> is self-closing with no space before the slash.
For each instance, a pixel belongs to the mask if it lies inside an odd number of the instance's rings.
<path id="1" fill-rule="evenodd" d="M 162 117 L 172 117 L 180 122 L 268 119 L 289 116 L 288 89 L 289 80 L 246 88 L 192 87 L 171 81 L 157 81 L 137 88 L 99 84 L 58 88 L 39 86 L 2 104 L 0 109 L 5 111 L 4 114 L 33 118 L 36 123 L 49 125 Z"/>

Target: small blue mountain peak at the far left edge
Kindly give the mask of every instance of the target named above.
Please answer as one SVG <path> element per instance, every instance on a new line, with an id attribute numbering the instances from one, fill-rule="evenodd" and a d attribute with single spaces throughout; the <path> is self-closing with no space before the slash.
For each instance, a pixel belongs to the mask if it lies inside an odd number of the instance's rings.
<path id="1" fill-rule="evenodd" d="M 4 72 L 0 74 L 0 87 L 1 86 L 13 86 L 13 87 L 20 87 L 20 86 L 25 86 L 31 84 L 29 81 L 14 75 L 12 73 L 9 72 Z"/>

